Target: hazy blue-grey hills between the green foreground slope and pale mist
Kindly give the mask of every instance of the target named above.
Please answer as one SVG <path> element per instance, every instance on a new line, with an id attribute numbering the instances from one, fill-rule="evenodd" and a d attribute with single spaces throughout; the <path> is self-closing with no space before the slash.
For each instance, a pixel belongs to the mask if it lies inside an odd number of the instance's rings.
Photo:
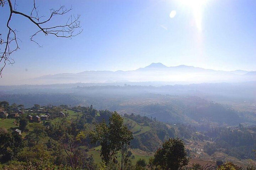
<path id="1" fill-rule="evenodd" d="M 130 88 L 130 90 L 129 90 Z M 152 87 L 156 89 L 155 87 Z M 123 92 L 124 90 L 128 90 Z M 143 91 L 145 90 L 145 91 Z M 255 102 L 247 98 L 239 101 L 216 103 L 197 96 L 176 96 L 150 93 L 146 87 L 88 87 L 77 88 L 75 93 L 61 94 L 5 94 L 0 99 L 25 106 L 61 105 L 86 106 L 108 109 L 120 114 L 135 114 L 156 118 L 158 121 L 192 125 L 231 126 L 256 124 Z M 164 92 L 163 92 L 164 93 Z"/>

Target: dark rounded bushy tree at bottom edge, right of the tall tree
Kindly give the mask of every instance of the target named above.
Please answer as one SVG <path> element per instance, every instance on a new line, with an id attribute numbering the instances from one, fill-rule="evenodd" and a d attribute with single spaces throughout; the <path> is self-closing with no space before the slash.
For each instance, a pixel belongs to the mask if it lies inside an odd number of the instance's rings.
<path id="1" fill-rule="evenodd" d="M 185 143 L 179 138 L 169 139 L 155 152 L 150 163 L 166 170 L 181 169 L 188 165 Z"/>

